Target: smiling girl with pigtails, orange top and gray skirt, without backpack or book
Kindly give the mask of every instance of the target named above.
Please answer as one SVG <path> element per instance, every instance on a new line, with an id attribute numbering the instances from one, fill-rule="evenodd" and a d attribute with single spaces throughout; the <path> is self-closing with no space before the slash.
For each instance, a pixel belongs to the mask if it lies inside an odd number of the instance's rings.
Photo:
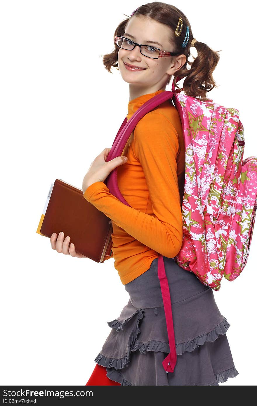
<path id="1" fill-rule="evenodd" d="M 206 99 L 217 87 L 213 78 L 219 54 L 196 41 L 186 16 L 176 7 L 152 2 L 136 9 L 114 33 L 115 50 L 104 55 L 110 72 L 119 67 L 129 84 L 127 119 L 180 76 L 184 93 Z M 190 46 L 198 56 L 188 62 Z M 165 54 L 161 51 L 165 51 Z M 187 64 L 191 69 L 187 69 Z M 178 86 L 177 86 L 178 87 Z M 167 100 L 136 125 L 120 157 L 106 162 L 106 148 L 92 162 L 82 190 L 84 198 L 112 219 L 114 268 L 130 300 L 95 358 L 86 385 L 218 385 L 238 375 L 226 332 L 229 323 L 212 289 L 174 260 L 181 248 L 185 148 L 176 108 Z M 119 189 L 131 207 L 104 184 L 116 167 Z M 52 238 L 53 237 L 53 238 Z M 76 256 L 69 237 L 59 252 Z M 56 248 L 57 249 L 57 248 Z M 163 255 L 171 293 L 177 363 L 166 372 L 170 352 L 160 282 L 158 253 Z M 204 315 L 200 309 L 205 309 Z"/>

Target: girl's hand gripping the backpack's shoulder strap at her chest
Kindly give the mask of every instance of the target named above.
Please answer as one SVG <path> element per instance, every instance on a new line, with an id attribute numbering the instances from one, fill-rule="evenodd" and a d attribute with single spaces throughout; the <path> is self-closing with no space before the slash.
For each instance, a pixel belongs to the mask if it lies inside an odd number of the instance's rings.
<path id="1" fill-rule="evenodd" d="M 95 182 L 104 182 L 107 176 L 119 165 L 127 162 L 126 156 L 117 156 L 116 158 L 106 162 L 110 148 L 105 148 L 89 166 L 89 170 L 84 176 L 82 183 L 83 194 L 85 190 Z"/>

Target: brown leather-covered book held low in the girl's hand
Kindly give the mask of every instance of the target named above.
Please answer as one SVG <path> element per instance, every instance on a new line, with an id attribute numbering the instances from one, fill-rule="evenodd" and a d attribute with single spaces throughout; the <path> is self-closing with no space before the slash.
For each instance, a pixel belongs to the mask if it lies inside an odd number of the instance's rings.
<path id="1" fill-rule="evenodd" d="M 112 222 L 89 203 L 82 189 L 62 179 L 51 185 L 39 221 L 37 233 L 51 237 L 52 233 L 69 235 L 75 251 L 96 262 L 112 255 Z"/>

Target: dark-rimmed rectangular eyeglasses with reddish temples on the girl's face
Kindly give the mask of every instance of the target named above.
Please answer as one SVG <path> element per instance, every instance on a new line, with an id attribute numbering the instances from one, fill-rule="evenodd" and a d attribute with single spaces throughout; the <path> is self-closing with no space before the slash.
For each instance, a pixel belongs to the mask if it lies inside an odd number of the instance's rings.
<path id="1" fill-rule="evenodd" d="M 175 54 L 174 52 L 166 52 L 160 50 L 160 48 L 152 47 L 151 45 L 141 45 L 129 38 L 120 37 L 118 35 L 115 36 L 114 44 L 116 44 L 119 48 L 123 50 L 132 51 L 134 50 L 135 46 L 139 46 L 140 52 L 142 55 L 147 56 L 148 58 L 158 59 L 164 56 L 175 56 L 179 54 Z"/>

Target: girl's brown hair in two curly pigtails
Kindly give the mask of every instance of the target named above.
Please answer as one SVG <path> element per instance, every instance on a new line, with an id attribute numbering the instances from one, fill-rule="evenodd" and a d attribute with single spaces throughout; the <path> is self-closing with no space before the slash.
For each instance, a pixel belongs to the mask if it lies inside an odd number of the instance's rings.
<path id="1" fill-rule="evenodd" d="M 212 72 L 216 68 L 216 65 L 219 61 L 220 55 L 218 54 L 219 51 L 214 51 L 208 47 L 203 42 L 197 41 L 194 44 L 194 47 L 197 49 L 197 57 L 193 57 L 193 61 L 189 62 L 188 57 L 190 56 L 190 43 L 194 38 L 192 35 L 192 30 L 190 23 L 186 16 L 177 9 L 177 7 L 172 6 L 171 4 L 166 4 L 162 2 L 152 2 L 143 4 L 142 6 L 138 7 L 136 13 L 134 15 L 144 15 L 149 17 L 155 21 L 158 21 L 162 24 L 166 24 L 171 28 L 171 38 L 169 39 L 170 42 L 173 44 L 174 49 L 173 52 L 178 52 L 179 55 L 186 55 L 186 63 L 181 67 L 181 69 L 175 71 L 173 74 L 173 82 L 175 82 L 177 77 L 185 78 L 183 83 L 183 91 L 188 96 L 197 97 L 199 96 L 202 100 L 206 98 L 206 92 L 211 91 L 214 87 L 218 87 L 216 82 L 212 77 Z M 175 30 L 178 25 L 179 17 L 183 20 L 183 27 L 181 31 L 181 35 L 179 37 L 175 36 Z M 124 35 L 126 25 L 129 21 L 130 17 L 123 20 L 114 32 L 114 37 L 116 35 Z M 186 37 L 186 27 L 189 27 L 189 39 L 188 43 L 185 48 L 182 48 L 182 43 Z M 179 30 L 180 30 L 179 24 Z M 115 45 L 115 49 L 111 54 L 101 55 L 103 57 L 103 63 L 105 69 L 108 72 L 111 72 L 111 67 L 118 68 L 118 52 L 119 47 Z M 174 56 L 175 58 L 175 56 Z M 187 64 L 190 65 L 190 69 L 187 69 Z M 171 81 L 171 77 L 168 79 L 167 85 Z M 175 88 L 179 88 L 177 84 L 175 84 Z M 180 89 L 181 90 L 181 89 Z"/>

